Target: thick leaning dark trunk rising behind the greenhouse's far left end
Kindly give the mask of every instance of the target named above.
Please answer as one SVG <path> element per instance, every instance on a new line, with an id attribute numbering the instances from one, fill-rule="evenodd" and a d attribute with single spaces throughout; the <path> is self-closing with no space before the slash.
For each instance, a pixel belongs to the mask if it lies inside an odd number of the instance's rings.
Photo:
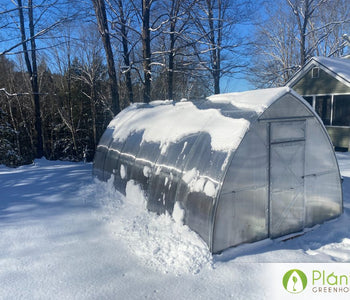
<path id="1" fill-rule="evenodd" d="M 98 29 L 101 34 L 103 47 L 106 52 L 109 86 L 112 96 L 112 111 L 116 115 L 118 112 L 120 112 L 118 80 L 117 73 L 115 71 L 114 56 L 108 30 L 106 6 L 104 0 L 92 0 L 92 3 L 95 8 Z"/>

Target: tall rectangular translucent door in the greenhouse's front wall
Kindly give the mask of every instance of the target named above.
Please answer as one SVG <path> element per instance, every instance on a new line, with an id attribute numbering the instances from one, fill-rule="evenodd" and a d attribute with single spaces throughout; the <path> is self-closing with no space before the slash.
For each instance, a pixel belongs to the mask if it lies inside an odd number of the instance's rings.
<path id="1" fill-rule="evenodd" d="M 272 238 L 304 227 L 304 156 L 305 121 L 270 124 L 269 236 Z"/>

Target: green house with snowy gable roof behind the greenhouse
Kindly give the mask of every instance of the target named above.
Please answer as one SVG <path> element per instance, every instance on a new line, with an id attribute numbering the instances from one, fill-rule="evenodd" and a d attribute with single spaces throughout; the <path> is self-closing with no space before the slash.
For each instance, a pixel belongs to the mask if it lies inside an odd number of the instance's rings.
<path id="1" fill-rule="evenodd" d="M 350 143 L 350 59 L 313 57 L 287 83 L 321 117 L 337 150 Z"/>

